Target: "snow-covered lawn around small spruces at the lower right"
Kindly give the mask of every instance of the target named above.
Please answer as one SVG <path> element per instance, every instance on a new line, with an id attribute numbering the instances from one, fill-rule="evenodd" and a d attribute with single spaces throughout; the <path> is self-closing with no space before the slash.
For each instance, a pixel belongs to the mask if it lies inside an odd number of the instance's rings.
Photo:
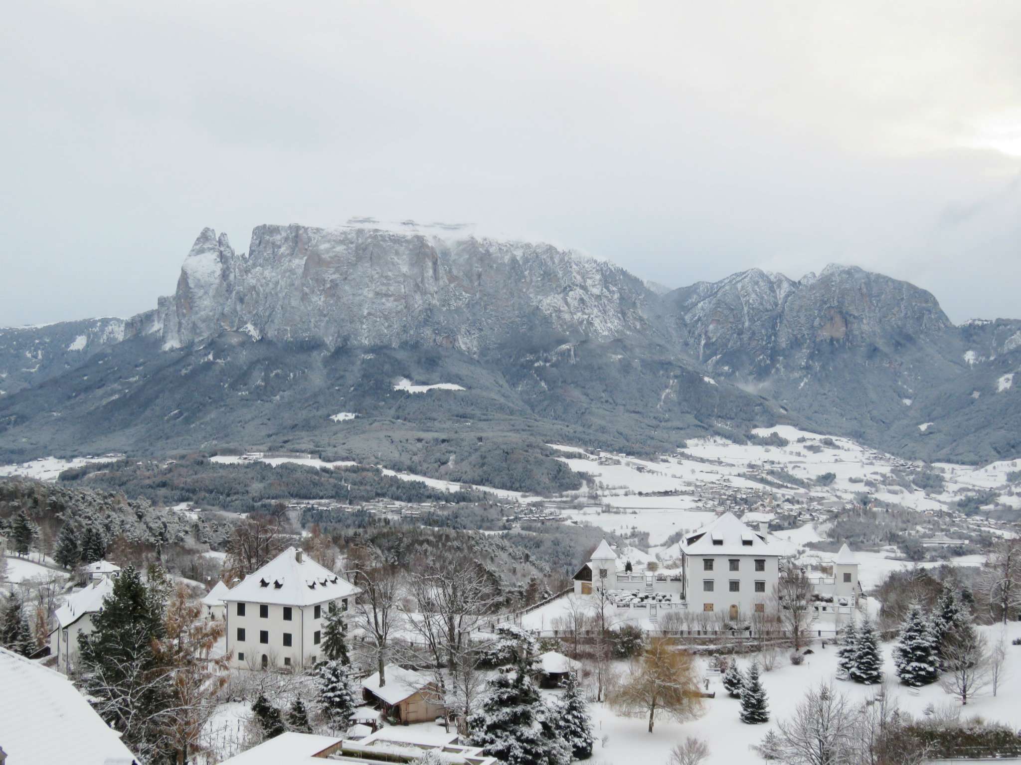
<path id="1" fill-rule="evenodd" d="M 987 633 L 990 642 L 995 639 L 999 626 L 981 627 Z M 1021 636 L 1021 622 L 1008 625 L 1008 644 L 1013 638 Z M 906 687 L 896 682 L 893 674 L 893 664 L 890 658 L 892 643 L 882 646 L 885 661 L 883 671 L 889 682 L 889 692 L 896 698 L 901 709 L 916 717 L 924 714 L 925 708 L 932 704 L 939 708 L 943 705 L 961 708 L 965 718 L 981 716 L 986 720 L 999 721 L 1014 728 L 1021 727 L 1021 646 L 1008 645 L 1006 671 L 1008 679 L 1000 685 L 996 698 L 990 692 L 976 697 L 967 707 L 960 707 L 952 697 L 939 687 L 939 684 L 920 688 L 917 696 L 908 693 Z M 758 744 L 773 727 L 778 719 L 790 717 L 805 692 L 820 681 L 833 681 L 836 688 L 846 694 L 852 700 L 862 703 L 873 697 L 877 686 L 859 685 L 847 681 L 833 680 L 836 673 L 836 651 L 832 646 L 821 649 L 813 646 L 815 654 L 806 657 L 805 664 L 791 666 L 786 658 L 778 662 L 772 672 L 764 672 L 763 685 L 769 697 L 770 722 L 764 725 L 745 725 L 738 720 L 740 702 L 726 695 L 719 678 L 710 680 L 710 691 L 715 691 L 716 699 L 706 699 L 703 714 L 696 720 L 677 723 L 666 718 L 657 720 L 652 733 L 646 732 L 646 718 L 626 718 L 617 716 L 605 704 L 592 704 L 589 711 L 592 715 L 595 750 L 590 762 L 592 765 L 611 765 L 617 763 L 635 763 L 638 765 L 660 765 L 666 763 L 670 749 L 686 736 L 702 738 L 710 746 L 710 758 L 707 765 L 738 765 L 743 763 L 763 762 L 749 747 Z M 750 657 L 738 659 L 741 667 L 747 666 Z M 704 669 L 704 662 L 700 663 Z M 621 667 L 626 671 L 626 665 Z M 601 738 L 605 736 L 605 746 Z"/>

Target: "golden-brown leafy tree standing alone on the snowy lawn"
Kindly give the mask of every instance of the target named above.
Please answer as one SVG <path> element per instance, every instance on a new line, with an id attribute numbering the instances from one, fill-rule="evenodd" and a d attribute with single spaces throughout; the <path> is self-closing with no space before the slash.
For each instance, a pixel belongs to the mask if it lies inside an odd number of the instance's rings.
<path id="1" fill-rule="evenodd" d="M 613 695 L 611 704 L 621 714 L 648 715 L 648 732 L 655 713 L 675 720 L 697 715 L 701 706 L 694 659 L 677 651 L 666 638 L 653 638 L 645 652 L 632 663 L 630 677 Z"/>

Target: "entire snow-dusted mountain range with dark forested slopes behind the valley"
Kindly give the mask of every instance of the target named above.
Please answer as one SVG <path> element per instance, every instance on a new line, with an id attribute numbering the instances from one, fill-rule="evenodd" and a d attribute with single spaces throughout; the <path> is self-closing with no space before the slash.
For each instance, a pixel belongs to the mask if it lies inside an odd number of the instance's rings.
<path id="1" fill-rule="evenodd" d="M 1021 453 L 1019 367 L 1021 321 L 956 326 L 853 266 L 669 291 L 456 228 L 260 225 L 246 253 L 206 228 L 153 310 L 0 329 L 0 459 L 286 448 L 548 488 L 544 443 L 792 422 L 981 462 Z"/>

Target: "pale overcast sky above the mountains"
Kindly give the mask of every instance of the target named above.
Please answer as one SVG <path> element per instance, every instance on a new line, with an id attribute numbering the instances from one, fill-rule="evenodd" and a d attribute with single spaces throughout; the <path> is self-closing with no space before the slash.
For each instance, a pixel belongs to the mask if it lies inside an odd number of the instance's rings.
<path id="1" fill-rule="evenodd" d="M 1021 317 L 1019 40 L 1010 0 L 8 4 L 0 324 L 154 307 L 206 225 L 352 215 Z"/>

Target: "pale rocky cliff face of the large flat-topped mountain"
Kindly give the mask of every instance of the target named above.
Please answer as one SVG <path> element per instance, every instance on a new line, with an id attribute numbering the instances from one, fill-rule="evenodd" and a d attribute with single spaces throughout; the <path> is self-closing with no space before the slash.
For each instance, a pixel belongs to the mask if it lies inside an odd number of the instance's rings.
<path id="1" fill-rule="evenodd" d="M 331 349 L 419 343 L 478 354 L 521 333 L 649 332 L 654 298 L 622 268 L 548 245 L 260 225 L 246 255 L 203 231 L 158 313 L 167 349 L 233 329 Z"/>

